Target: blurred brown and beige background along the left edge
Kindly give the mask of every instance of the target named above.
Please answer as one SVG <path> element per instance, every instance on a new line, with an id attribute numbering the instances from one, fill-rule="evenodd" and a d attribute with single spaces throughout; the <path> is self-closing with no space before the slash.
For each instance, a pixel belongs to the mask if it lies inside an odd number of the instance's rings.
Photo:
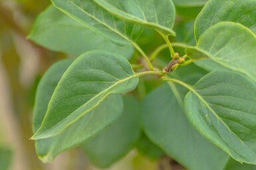
<path id="1" fill-rule="evenodd" d="M 63 54 L 27 40 L 35 17 L 51 2 L 0 1 L 0 169 L 65 169 L 64 157 L 51 165 L 37 158 L 31 119 L 37 83 Z M 67 167 L 68 168 L 68 167 Z"/>

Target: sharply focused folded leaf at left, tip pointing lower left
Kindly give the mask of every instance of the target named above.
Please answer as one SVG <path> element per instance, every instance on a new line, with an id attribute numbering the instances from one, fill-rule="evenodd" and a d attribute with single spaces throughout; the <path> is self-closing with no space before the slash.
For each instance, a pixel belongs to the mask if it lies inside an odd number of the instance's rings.
<path id="1" fill-rule="evenodd" d="M 132 91 L 138 77 L 122 56 L 86 52 L 68 67 L 49 103 L 41 128 L 33 140 L 59 134 L 112 93 Z"/>

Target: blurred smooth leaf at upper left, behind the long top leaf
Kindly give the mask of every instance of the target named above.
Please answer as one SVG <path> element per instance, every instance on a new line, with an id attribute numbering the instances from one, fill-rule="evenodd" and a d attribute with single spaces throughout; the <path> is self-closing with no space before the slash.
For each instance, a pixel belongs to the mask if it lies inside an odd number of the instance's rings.
<path id="1" fill-rule="evenodd" d="M 53 51 L 79 56 L 89 50 L 104 50 L 130 58 L 132 46 L 120 47 L 98 36 L 52 5 L 39 15 L 28 38 Z"/>

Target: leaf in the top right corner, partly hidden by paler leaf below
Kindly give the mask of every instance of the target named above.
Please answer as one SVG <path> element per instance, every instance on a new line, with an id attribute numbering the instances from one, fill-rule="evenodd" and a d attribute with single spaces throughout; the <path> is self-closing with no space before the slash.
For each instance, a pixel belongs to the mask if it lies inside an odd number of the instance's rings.
<path id="1" fill-rule="evenodd" d="M 222 21 L 239 22 L 256 33 L 256 0 L 210 0 L 195 22 L 196 40 L 210 26 Z"/>

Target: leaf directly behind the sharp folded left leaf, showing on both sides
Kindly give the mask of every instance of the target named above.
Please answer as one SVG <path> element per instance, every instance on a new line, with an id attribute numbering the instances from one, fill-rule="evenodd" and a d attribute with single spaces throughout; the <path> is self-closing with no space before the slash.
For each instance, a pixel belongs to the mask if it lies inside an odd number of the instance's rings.
<path id="1" fill-rule="evenodd" d="M 40 128 L 51 96 L 71 62 L 72 60 L 63 60 L 54 64 L 41 79 L 33 112 L 34 132 Z M 120 116 L 122 108 L 120 95 L 107 97 L 94 110 L 68 126 L 61 134 L 52 138 L 37 140 L 35 142 L 37 155 L 44 162 L 52 161 L 64 150 L 78 146 L 104 130 L 106 126 L 109 126 Z"/>

